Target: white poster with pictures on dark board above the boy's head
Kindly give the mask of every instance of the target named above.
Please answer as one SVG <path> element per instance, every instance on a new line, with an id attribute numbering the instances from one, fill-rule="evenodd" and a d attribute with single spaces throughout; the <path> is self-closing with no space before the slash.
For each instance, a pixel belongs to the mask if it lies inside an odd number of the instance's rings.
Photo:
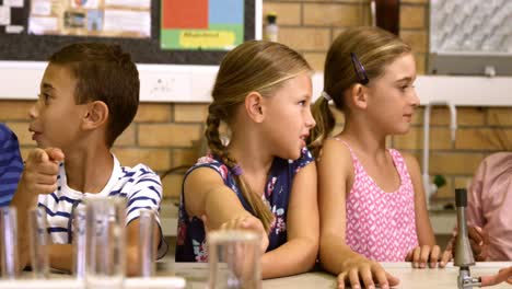
<path id="1" fill-rule="evenodd" d="M 151 37 L 151 0 L 31 0 L 28 33 Z"/>

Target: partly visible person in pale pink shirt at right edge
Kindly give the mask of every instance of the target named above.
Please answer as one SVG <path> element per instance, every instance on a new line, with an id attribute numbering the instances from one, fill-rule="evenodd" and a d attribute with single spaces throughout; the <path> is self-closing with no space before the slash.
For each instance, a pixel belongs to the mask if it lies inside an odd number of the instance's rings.
<path id="1" fill-rule="evenodd" d="M 510 208 L 512 152 L 497 152 L 480 163 L 468 189 L 466 216 L 469 243 L 476 261 L 512 261 Z M 443 265 L 452 259 L 455 236 L 443 253 Z"/>

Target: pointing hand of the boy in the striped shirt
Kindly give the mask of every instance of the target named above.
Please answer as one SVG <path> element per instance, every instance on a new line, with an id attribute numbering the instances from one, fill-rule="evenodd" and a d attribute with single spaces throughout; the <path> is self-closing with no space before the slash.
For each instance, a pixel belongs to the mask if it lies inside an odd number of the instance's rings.
<path id="1" fill-rule="evenodd" d="M 22 184 L 31 195 L 50 194 L 57 189 L 59 163 L 65 155 L 60 149 L 35 149 L 30 152 L 22 174 Z"/>

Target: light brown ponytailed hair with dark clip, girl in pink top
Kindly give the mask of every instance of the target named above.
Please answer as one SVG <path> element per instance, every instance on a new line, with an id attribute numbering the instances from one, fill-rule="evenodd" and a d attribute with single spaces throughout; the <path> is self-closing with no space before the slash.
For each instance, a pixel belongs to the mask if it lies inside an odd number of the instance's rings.
<path id="1" fill-rule="evenodd" d="M 344 111 L 345 92 L 361 81 L 352 63 L 352 53 L 364 67 L 371 83 L 384 73 L 387 65 L 410 51 L 410 46 L 399 37 L 379 27 L 347 28 L 336 37 L 327 51 L 324 91 L 333 99 L 335 107 Z M 318 155 L 322 142 L 336 125 L 329 104 L 324 97 L 319 97 L 313 105 L 313 117 L 316 126 L 311 130 L 309 147 Z"/>

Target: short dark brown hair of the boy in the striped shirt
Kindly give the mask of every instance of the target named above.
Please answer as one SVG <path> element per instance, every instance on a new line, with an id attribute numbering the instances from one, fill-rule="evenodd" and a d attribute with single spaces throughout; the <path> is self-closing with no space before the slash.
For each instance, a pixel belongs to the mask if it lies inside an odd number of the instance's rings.
<path id="1" fill-rule="evenodd" d="M 108 107 L 106 144 L 130 125 L 139 106 L 139 72 L 128 53 L 119 45 L 77 43 L 48 58 L 50 63 L 68 67 L 77 79 L 77 104 L 102 101 Z"/>

